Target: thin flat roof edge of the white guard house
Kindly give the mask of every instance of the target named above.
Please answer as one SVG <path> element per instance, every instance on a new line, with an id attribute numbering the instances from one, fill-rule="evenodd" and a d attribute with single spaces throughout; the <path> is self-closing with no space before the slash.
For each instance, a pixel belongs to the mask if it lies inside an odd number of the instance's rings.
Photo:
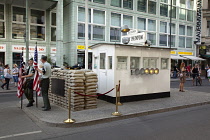
<path id="1" fill-rule="evenodd" d="M 101 45 L 115 45 L 115 46 L 128 46 L 128 47 L 141 47 L 141 48 L 156 48 L 156 49 L 168 49 L 168 50 L 177 50 L 176 48 L 166 48 L 166 47 L 150 47 L 150 46 L 140 46 L 140 45 L 131 45 L 131 44 L 115 44 L 115 43 L 97 43 L 90 46 L 91 49 L 99 47 Z"/>

